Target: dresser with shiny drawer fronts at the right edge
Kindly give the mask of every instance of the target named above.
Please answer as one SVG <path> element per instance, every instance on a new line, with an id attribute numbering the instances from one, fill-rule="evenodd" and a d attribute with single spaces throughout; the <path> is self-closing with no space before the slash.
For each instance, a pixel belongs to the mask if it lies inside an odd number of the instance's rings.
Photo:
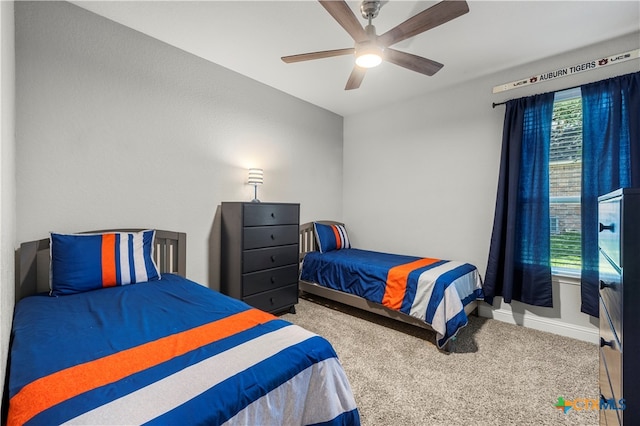
<path id="1" fill-rule="evenodd" d="M 640 424 L 640 188 L 598 198 L 600 424 Z"/>

